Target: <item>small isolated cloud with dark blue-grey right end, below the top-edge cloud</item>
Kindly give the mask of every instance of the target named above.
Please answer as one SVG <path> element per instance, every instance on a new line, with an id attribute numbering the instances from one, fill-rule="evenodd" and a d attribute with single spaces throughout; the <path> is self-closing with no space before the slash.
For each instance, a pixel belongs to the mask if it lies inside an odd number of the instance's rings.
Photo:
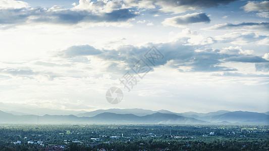
<path id="1" fill-rule="evenodd" d="M 210 19 L 205 13 L 192 13 L 184 16 L 176 16 L 165 19 L 162 22 L 166 26 L 185 27 L 188 24 L 194 23 L 209 23 Z"/>

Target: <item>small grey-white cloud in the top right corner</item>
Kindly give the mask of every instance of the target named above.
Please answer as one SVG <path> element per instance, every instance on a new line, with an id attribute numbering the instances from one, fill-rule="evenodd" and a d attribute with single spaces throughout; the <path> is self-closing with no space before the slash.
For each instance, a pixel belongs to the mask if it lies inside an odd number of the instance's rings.
<path id="1" fill-rule="evenodd" d="M 245 6 L 241 7 L 246 12 L 252 12 L 252 11 L 269 11 L 269 1 L 263 1 L 263 2 L 251 2 L 249 1 Z"/>

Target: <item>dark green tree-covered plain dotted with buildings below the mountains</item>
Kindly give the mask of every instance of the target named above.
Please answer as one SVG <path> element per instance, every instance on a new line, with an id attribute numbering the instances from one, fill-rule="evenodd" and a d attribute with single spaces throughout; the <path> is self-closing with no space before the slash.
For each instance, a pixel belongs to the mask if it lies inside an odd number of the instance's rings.
<path id="1" fill-rule="evenodd" d="M 0 150 L 268 150 L 268 125 L 0 125 Z"/>

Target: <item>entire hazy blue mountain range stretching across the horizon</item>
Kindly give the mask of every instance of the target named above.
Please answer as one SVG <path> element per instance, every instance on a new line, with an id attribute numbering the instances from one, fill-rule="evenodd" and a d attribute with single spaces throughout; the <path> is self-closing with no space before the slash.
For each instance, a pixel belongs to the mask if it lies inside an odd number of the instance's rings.
<path id="1" fill-rule="evenodd" d="M 13 113 L 0 111 L 0 124 L 269 124 L 267 112 L 225 110 L 175 113 L 168 110 L 107 109 L 77 115 L 43 116 Z"/>

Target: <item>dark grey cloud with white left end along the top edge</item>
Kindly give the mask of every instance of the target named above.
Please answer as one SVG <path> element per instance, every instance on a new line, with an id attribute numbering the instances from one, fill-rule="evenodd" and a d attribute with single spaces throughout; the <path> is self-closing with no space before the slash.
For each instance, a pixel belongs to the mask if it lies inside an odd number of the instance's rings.
<path id="1" fill-rule="evenodd" d="M 88 9 L 88 10 L 98 10 L 98 12 L 103 12 L 105 10 L 111 9 L 121 9 L 121 8 L 135 8 L 138 10 L 149 10 L 158 9 L 161 12 L 172 12 L 175 14 L 184 13 L 187 11 L 193 11 L 197 9 L 205 9 L 211 7 L 218 7 L 220 5 L 226 5 L 230 2 L 236 0 L 225 0 L 225 1 L 184 1 L 184 0 L 123 0 L 123 1 L 96 1 L 90 2 L 88 0 L 80 0 L 79 5 L 76 9 Z"/>

